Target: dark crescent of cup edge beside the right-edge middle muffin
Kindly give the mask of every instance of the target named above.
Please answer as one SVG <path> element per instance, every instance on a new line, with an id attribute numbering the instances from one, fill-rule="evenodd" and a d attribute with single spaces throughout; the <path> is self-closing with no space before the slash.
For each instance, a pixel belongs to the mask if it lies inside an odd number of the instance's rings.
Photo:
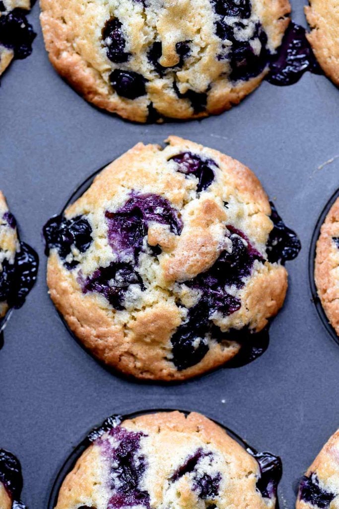
<path id="1" fill-rule="evenodd" d="M 317 309 L 318 316 L 320 320 L 322 321 L 325 329 L 330 334 L 332 339 L 339 345 L 339 337 L 337 336 L 334 328 L 329 323 L 328 318 L 325 314 L 324 308 L 321 304 L 320 298 L 318 297 L 316 282 L 314 278 L 314 269 L 315 269 L 315 259 L 316 259 L 316 249 L 317 249 L 317 241 L 320 235 L 320 229 L 322 227 L 323 222 L 325 221 L 325 218 L 332 207 L 333 203 L 339 196 L 339 189 L 337 189 L 328 202 L 326 203 L 325 207 L 323 208 L 317 223 L 315 225 L 315 229 L 313 231 L 312 240 L 311 240 L 311 246 L 310 246 L 310 253 L 309 253 L 309 280 L 310 280 L 310 287 L 311 287 L 311 294 L 312 294 L 312 302 L 315 304 L 315 307 Z"/>

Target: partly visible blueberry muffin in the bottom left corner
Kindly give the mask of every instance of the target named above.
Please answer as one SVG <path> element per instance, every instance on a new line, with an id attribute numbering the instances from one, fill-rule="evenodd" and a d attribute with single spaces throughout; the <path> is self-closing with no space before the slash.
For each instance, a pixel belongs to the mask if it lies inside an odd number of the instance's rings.
<path id="1" fill-rule="evenodd" d="M 25 509 L 19 502 L 21 490 L 22 475 L 19 461 L 13 454 L 0 449 L 0 509 Z"/>

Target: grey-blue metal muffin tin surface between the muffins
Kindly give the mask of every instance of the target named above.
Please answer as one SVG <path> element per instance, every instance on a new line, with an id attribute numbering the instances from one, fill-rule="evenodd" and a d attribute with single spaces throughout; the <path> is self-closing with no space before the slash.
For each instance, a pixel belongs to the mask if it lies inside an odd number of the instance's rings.
<path id="1" fill-rule="evenodd" d="M 302 2 L 292 6 L 293 19 L 306 26 Z M 186 408 L 281 456 L 280 504 L 292 509 L 298 478 L 339 426 L 339 346 L 311 301 L 308 262 L 318 217 L 339 187 L 339 91 L 324 76 L 306 73 L 291 87 L 264 82 L 219 117 L 151 126 L 124 122 L 86 104 L 55 74 L 38 13 L 36 5 L 29 15 L 38 31 L 33 53 L 14 62 L 0 89 L 0 187 L 22 240 L 37 249 L 41 262 L 38 282 L 13 312 L 0 351 L 0 447 L 21 461 L 23 501 L 46 509 L 73 447 L 108 415 Z M 162 143 L 169 134 L 250 166 L 299 234 L 302 250 L 287 263 L 288 297 L 262 357 L 165 385 L 112 375 L 73 340 L 47 295 L 41 229 L 96 169 L 139 141 Z"/>

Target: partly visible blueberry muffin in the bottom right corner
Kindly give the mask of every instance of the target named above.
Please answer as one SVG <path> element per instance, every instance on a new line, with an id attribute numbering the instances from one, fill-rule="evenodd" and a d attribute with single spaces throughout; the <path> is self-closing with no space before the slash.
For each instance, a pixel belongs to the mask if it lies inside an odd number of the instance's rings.
<path id="1" fill-rule="evenodd" d="M 296 509 L 339 507 L 339 430 L 331 436 L 302 477 Z"/>

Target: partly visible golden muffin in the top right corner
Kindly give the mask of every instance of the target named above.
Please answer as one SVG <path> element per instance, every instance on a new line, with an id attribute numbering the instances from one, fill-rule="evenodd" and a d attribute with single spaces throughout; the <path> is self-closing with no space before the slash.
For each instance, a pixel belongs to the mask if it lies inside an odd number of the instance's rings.
<path id="1" fill-rule="evenodd" d="M 324 72 L 339 86 L 339 2 L 310 0 L 305 14 L 312 29 L 307 39 Z"/>

